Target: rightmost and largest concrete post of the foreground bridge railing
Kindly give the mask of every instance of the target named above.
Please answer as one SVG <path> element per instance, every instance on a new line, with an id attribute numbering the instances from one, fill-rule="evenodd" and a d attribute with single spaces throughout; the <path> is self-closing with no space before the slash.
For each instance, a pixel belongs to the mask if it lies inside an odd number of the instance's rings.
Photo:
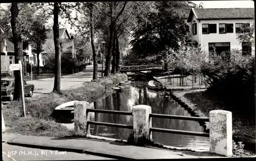
<path id="1" fill-rule="evenodd" d="M 209 120 L 210 152 L 232 156 L 232 113 L 212 110 Z"/>

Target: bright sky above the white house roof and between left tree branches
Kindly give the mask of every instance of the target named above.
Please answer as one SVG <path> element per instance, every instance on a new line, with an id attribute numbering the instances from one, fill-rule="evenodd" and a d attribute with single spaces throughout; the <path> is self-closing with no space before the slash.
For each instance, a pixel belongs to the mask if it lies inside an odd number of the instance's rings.
<path id="1" fill-rule="evenodd" d="M 191 1 L 197 5 L 201 2 L 203 3 L 204 8 L 254 8 L 253 1 Z M 1 7 L 4 7 L 5 4 L 1 4 Z M 75 16 L 75 12 L 72 13 Z M 61 24 L 65 24 L 65 19 L 59 19 Z M 53 19 L 49 20 L 49 24 L 53 22 Z M 69 33 L 74 33 L 74 28 L 71 29 L 70 24 L 64 25 L 67 27 Z"/>

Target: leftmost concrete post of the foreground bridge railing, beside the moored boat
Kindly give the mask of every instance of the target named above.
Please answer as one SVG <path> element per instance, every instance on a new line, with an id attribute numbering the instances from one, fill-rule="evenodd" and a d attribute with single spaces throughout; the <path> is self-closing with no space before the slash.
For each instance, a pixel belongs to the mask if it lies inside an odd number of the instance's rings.
<path id="1" fill-rule="evenodd" d="M 87 127 L 87 121 L 90 120 L 90 117 L 86 112 L 88 108 L 91 108 L 89 102 L 77 101 L 74 103 L 74 125 L 76 135 L 90 135 L 90 126 Z"/>

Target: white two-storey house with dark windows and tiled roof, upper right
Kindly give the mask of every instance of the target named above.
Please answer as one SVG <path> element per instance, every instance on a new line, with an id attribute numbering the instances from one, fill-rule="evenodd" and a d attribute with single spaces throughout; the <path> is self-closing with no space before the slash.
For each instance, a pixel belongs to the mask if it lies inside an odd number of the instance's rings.
<path id="1" fill-rule="evenodd" d="M 191 23 L 191 41 L 201 49 L 217 53 L 240 49 L 248 54 L 246 42 L 239 43 L 241 27 L 254 24 L 254 8 L 193 8 L 187 22 Z"/>

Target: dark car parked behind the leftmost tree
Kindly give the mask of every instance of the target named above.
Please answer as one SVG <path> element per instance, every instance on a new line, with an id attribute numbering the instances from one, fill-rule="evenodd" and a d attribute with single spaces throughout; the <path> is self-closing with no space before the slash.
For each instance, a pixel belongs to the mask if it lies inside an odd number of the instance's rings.
<path id="1" fill-rule="evenodd" d="M 10 101 L 13 101 L 14 98 L 14 79 L 2 79 L 1 80 L 1 99 L 2 98 L 9 98 Z M 33 84 L 27 84 L 24 81 L 24 94 L 25 96 L 32 97 L 34 91 Z"/>

